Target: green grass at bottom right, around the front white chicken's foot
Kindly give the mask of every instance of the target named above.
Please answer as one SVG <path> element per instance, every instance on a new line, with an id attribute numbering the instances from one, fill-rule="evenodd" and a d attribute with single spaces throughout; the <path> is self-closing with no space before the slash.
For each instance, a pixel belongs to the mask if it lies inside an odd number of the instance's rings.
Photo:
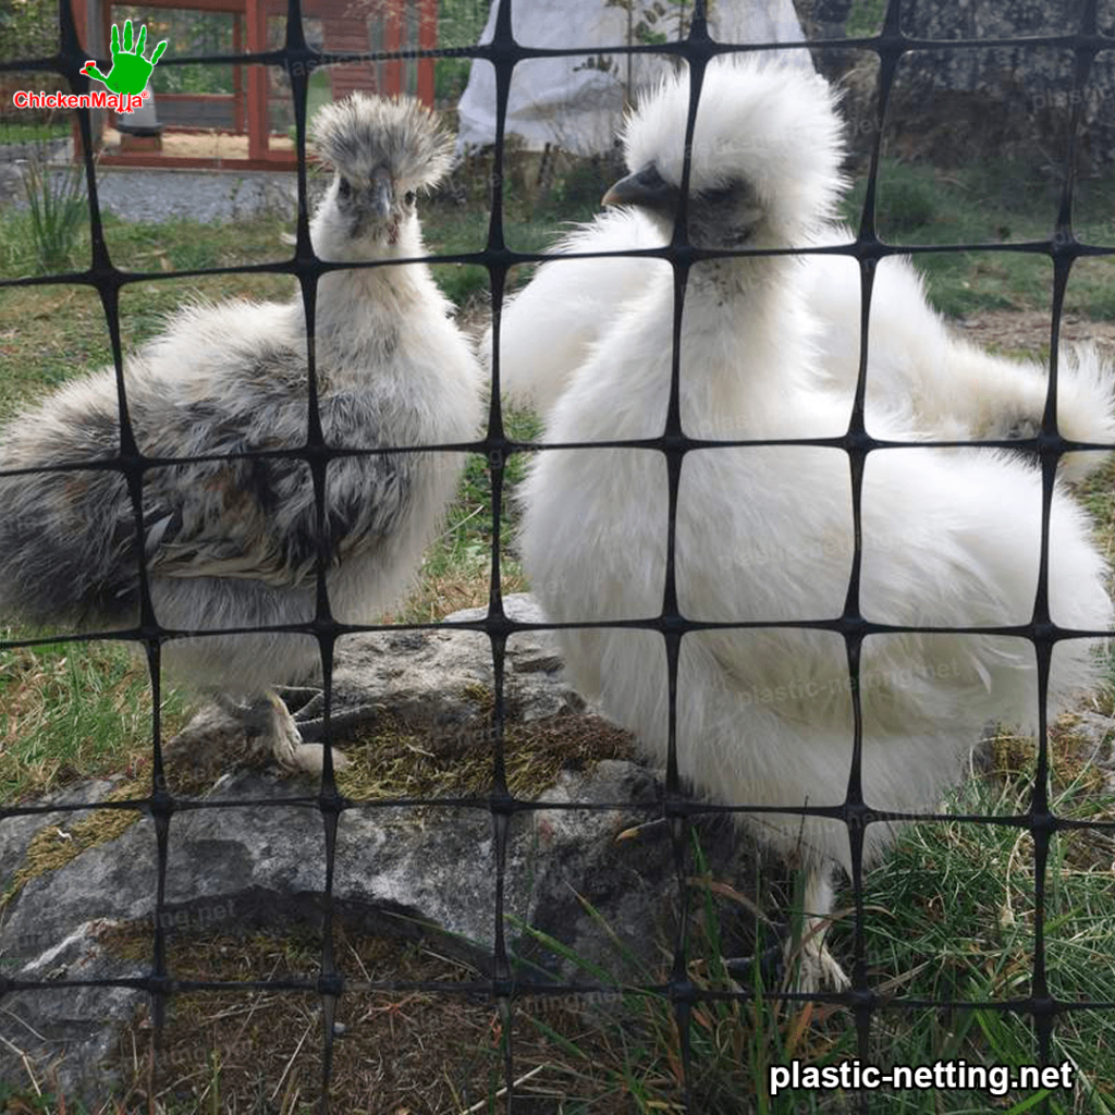
<path id="1" fill-rule="evenodd" d="M 1063 816 L 1109 822 L 1115 801 L 1097 791 L 1094 772 L 1082 768 L 1061 733 L 1054 745 L 1054 808 Z M 1032 756 L 1005 737 L 992 749 L 995 769 L 972 779 L 949 799 L 946 812 L 1002 816 L 1022 813 L 1032 784 Z M 1075 772 L 1075 773 L 1074 773 Z M 1115 922 L 1109 909 L 1115 881 L 1109 832 L 1061 834 L 1048 861 L 1046 942 L 1050 989 L 1064 1000 L 1115 1000 Z M 740 899 L 710 878 L 699 846 L 692 872 L 689 978 L 699 991 L 735 991 L 737 998 L 699 1002 L 691 1014 L 691 1099 L 702 1115 L 845 1113 L 855 1108 L 843 1093 L 791 1092 L 770 1096 L 768 1069 L 793 1059 L 814 1067 L 857 1057 L 851 1015 L 843 1007 L 793 1004 L 777 996 L 785 982 L 764 986 L 731 981 L 720 956 Z M 1034 857 L 1029 836 L 1009 826 L 927 822 L 908 826 L 886 862 L 866 876 L 865 937 L 869 982 L 882 993 L 872 1028 L 870 1064 L 1006 1066 L 1017 1072 L 1037 1063 L 1028 1017 L 966 1006 L 1025 998 L 1032 972 Z M 850 901 L 846 893 L 842 900 Z M 840 903 L 841 900 L 838 900 Z M 733 906 L 736 906 L 733 909 Z M 681 1044 L 668 1001 L 636 992 L 609 975 L 607 962 L 590 963 L 560 941 L 527 927 L 553 956 L 579 969 L 579 977 L 614 986 L 615 1001 L 589 1011 L 574 1040 L 561 1043 L 566 1098 L 622 1094 L 640 1115 L 675 1109 L 681 1098 Z M 607 931 L 607 927 L 604 927 Z M 847 961 L 851 919 L 831 934 Z M 615 940 L 617 970 L 633 958 Z M 667 942 L 663 948 L 668 950 Z M 644 971 L 647 983 L 667 979 Z M 850 969 L 851 966 L 846 963 Z M 938 1000 L 942 1009 L 903 1007 Z M 560 1031 L 524 1008 L 531 1025 L 552 1039 Z M 1070 1012 L 1058 1019 L 1053 1064 L 1074 1066 L 1074 1087 L 1048 1094 L 1051 1115 L 1111 1115 L 1115 1112 L 1115 1017 L 1104 1010 Z M 986 1092 L 888 1092 L 886 1112 L 922 1115 L 982 1115 L 990 1109 L 1021 1115 L 1041 1093 L 1017 1088 Z M 585 1108 L 595 1111 L 595 1107 Z M 607 1105 L 604 1109 L 610 1111 Z"/>

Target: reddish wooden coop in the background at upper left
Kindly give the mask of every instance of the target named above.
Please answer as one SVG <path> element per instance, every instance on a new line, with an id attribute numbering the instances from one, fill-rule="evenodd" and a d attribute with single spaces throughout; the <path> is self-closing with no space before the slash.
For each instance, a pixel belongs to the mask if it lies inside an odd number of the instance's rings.
<path id="1" fill-rule="evenodd" d="M 128 117 L 94 113 L 94 139 L 101 159 L 130 166 L 196 166 L 236 169 L 282 169 L 295 165 L 293 98 L 290 75 L 278 66 L 212 64 L 221 67 L 231 89 L 207 91 L 158 88 L 159 68 L 171 58 L 254 54 L 275 50 L 285 41 L 287 0 L 74 0 L 78 27 L 98 64 L 109 64 L 112 27 L 125 19 L 147 25 L 147 50 L 161 39 L 167 49 L 152 76 L 155 126 L 135 128 Z M 220 50 L 191 49 L 191 17 L 212 17 L 221 28 Z M 323 56 L 310 75 L 309 110 L 358 89 L 408 93 L 434 103 L 434 60 L 395 58 L 406 50 L 437 46 L 437 0 L 302 0 L 307 41 Z M 186 33 L 182 33 L 183 28 Z M 175 30 L 180 33 L 175 35 Z M 331 61 L 345 55 L 371 55 L 371 60 Z M 107 71 L 107 65 L 100 65 Z M 167 67 L 167 71 L 185 67 Z M 184 84 L 184 83 L 180 83 Z M 198 81 L 194 80 L 194 85 Z M 123 125 L 123 127 L 122 127 Z"/>

